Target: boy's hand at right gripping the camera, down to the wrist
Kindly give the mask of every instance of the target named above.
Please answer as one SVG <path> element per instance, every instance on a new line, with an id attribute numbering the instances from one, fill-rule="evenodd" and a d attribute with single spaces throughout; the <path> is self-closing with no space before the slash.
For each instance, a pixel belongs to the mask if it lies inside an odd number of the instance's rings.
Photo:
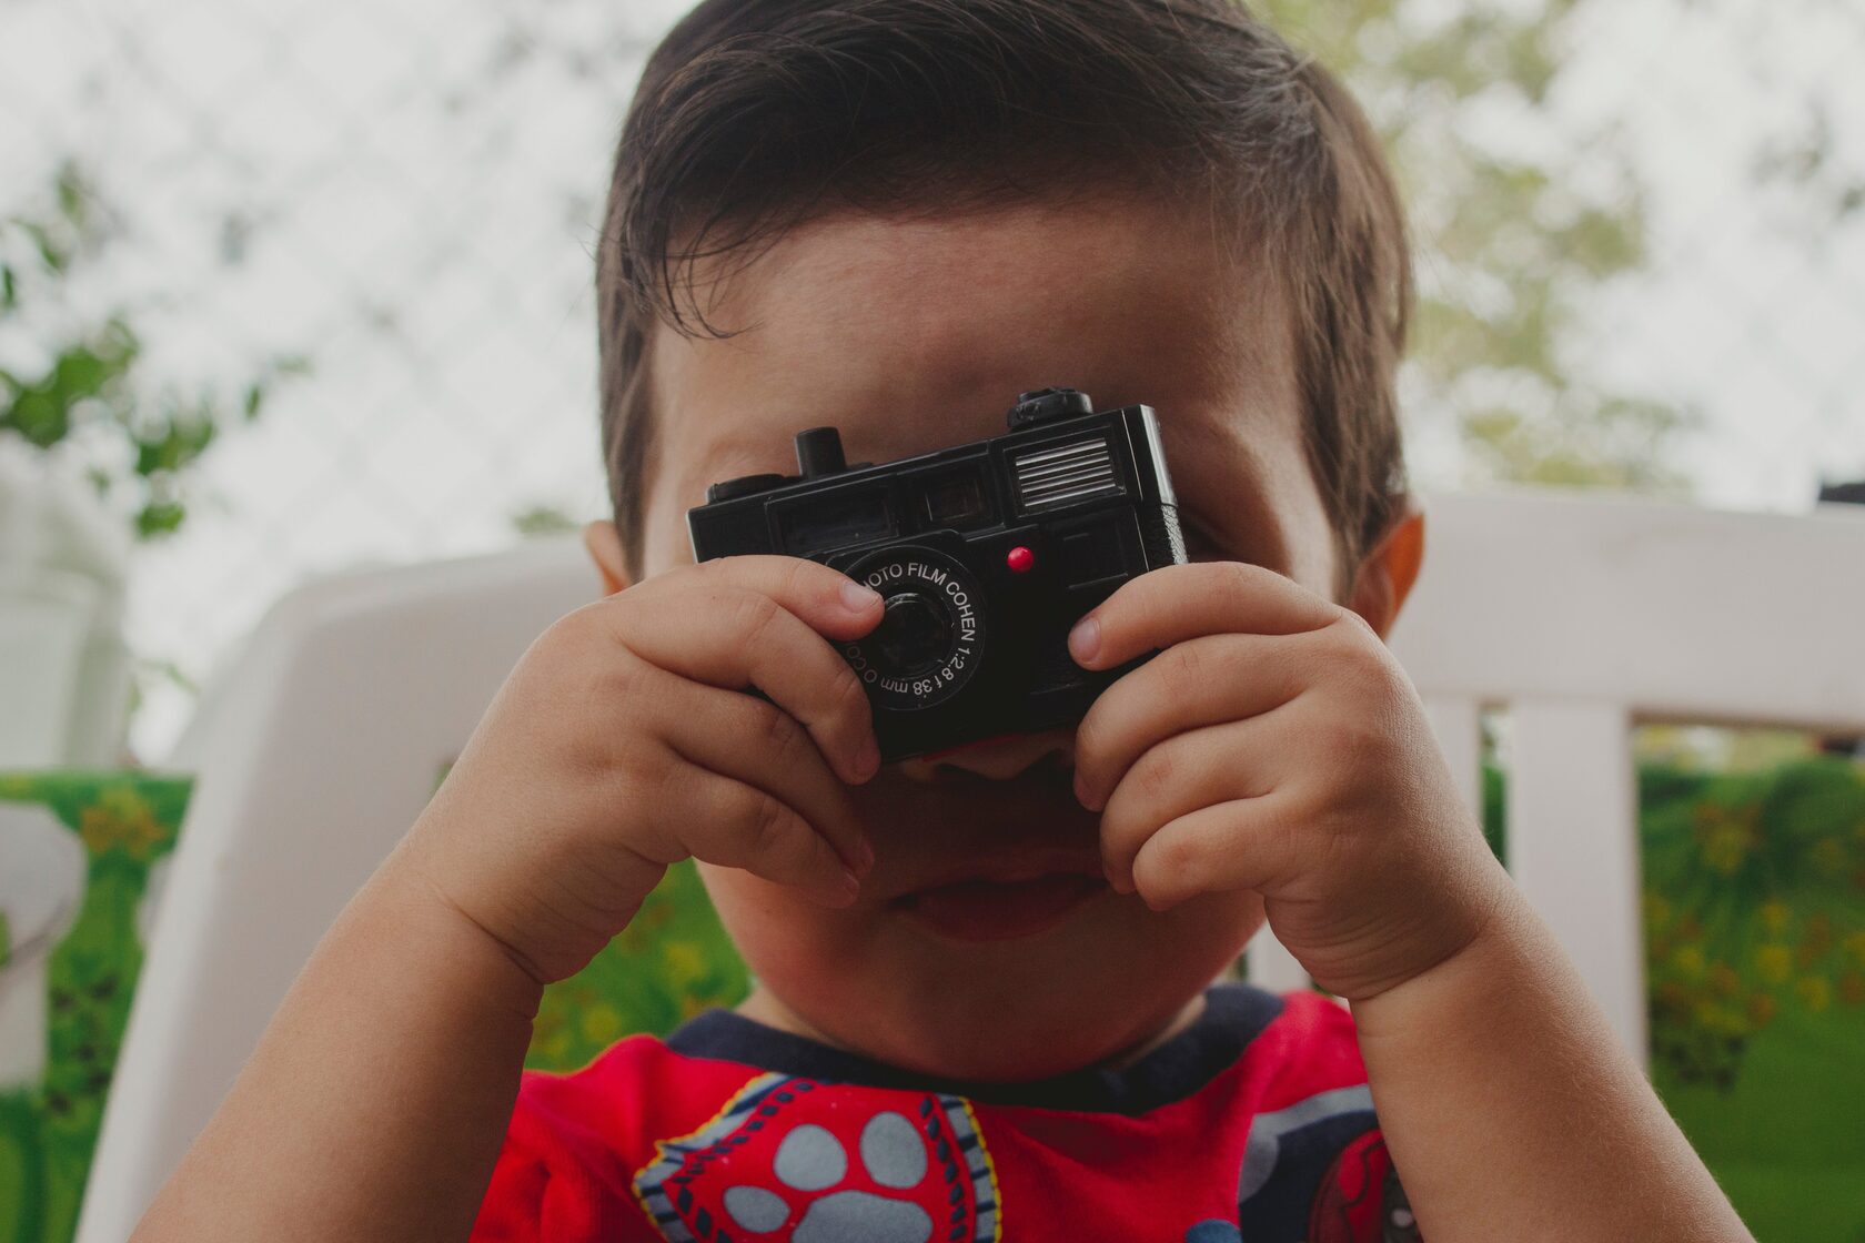
<path id="1" fill-rule="evenodd" d="M 1360 615 L 1253 565 L 1123 585 L 1069 639 L 1087 669 L 1151 649 L 1076 731 L 1110 883 L 1154 909 L 1257 891 L 1315 980 L 1363 1001 L 1457 954 L 1507 876 L 1410 680 Z"/>

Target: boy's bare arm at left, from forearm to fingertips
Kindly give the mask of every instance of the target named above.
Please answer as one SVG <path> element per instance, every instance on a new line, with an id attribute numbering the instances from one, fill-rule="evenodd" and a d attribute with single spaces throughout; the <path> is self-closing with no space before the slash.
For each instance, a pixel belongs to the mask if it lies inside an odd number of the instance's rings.
<path id="1" fill-rule="evenodd" d="M 621 932 L 670 863 L 854 898 L 873 854 L 843 781 L 871 777 L 878 751 L 828 639 L 880 613 L 811 561 L 727 557 L 552 626 L 134 1243 L 464 1239 L 545 982 Z"/>

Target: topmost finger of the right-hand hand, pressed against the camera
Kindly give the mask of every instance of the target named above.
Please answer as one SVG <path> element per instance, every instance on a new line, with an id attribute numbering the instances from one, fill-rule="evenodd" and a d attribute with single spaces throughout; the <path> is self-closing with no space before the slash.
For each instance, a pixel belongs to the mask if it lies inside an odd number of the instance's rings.
<path id="1" fill-rule="evenodd" d="M 1194 561 L 1141 574 L 1087 611 L 1069 632 L 1084 669 L 1110 669 L 1143 652 L 1207 634 L 1304 634 L 1345 609 L 1259 565 Z"/>

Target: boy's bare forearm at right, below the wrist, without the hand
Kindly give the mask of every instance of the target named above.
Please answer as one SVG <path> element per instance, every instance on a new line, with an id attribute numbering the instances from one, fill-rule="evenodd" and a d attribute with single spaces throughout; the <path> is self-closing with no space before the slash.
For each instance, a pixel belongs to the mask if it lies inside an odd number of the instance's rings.
<path id="1" fill-rule="evenodd" d="M 1749 1239 L 1520 896 L 1354 1023 L 1430 1243 Z"/>

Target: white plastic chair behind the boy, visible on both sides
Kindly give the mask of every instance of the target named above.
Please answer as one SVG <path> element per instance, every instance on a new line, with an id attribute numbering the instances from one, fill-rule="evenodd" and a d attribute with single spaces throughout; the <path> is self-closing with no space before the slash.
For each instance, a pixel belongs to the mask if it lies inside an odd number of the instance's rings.
<path id="1" fill-rule="evenodd" d="M 1511 863 L 1643 1049 L 1634 719 L 1865 731 L 1865 514 L 1438 498 L 1397 635 L 1471 801 L 1511 708 Z M 121 1243 L 317 937 L 420 813 L 526 643 L 597 594 L 574 542 L 306 587 L 177 758 L 200 773 L 78 1243 Z M 1253 977 L 1298 986 L 1274 943 Z"/>

